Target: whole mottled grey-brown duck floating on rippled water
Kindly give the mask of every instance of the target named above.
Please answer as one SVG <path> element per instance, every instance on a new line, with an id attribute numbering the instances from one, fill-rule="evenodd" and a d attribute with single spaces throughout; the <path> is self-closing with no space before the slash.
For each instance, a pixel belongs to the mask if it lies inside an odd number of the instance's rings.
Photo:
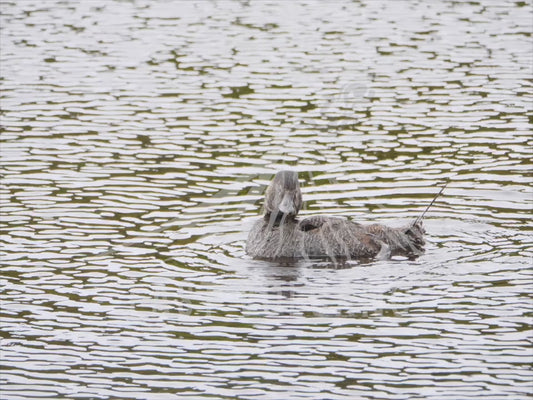
<path id="1" fill-rule="evenodd" d="M 415 259 L 424 253 L 425 230 L 421 218 L 399 228 L 360 224 L 327 215 L 298 218 L 302 193 L 295 171 L 279 171 L 264 199 L 264 215 L 257 220 L 246 241 L 253 259 L 289 261 L 329 258 L 372 260 L 404 256 Z"/>

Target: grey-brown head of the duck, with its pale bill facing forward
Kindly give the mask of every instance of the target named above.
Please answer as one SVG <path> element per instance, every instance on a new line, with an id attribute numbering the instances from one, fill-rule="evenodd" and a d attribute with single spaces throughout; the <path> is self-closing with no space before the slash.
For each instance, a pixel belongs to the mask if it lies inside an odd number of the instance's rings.
<path id="1" fill-rule="evenodd" d="M 280 171 L 276 174 L 265 195 L 265 217 L 272 220 L 296 218 L 302 208 L 302 193 L 298 174 Z"/>

